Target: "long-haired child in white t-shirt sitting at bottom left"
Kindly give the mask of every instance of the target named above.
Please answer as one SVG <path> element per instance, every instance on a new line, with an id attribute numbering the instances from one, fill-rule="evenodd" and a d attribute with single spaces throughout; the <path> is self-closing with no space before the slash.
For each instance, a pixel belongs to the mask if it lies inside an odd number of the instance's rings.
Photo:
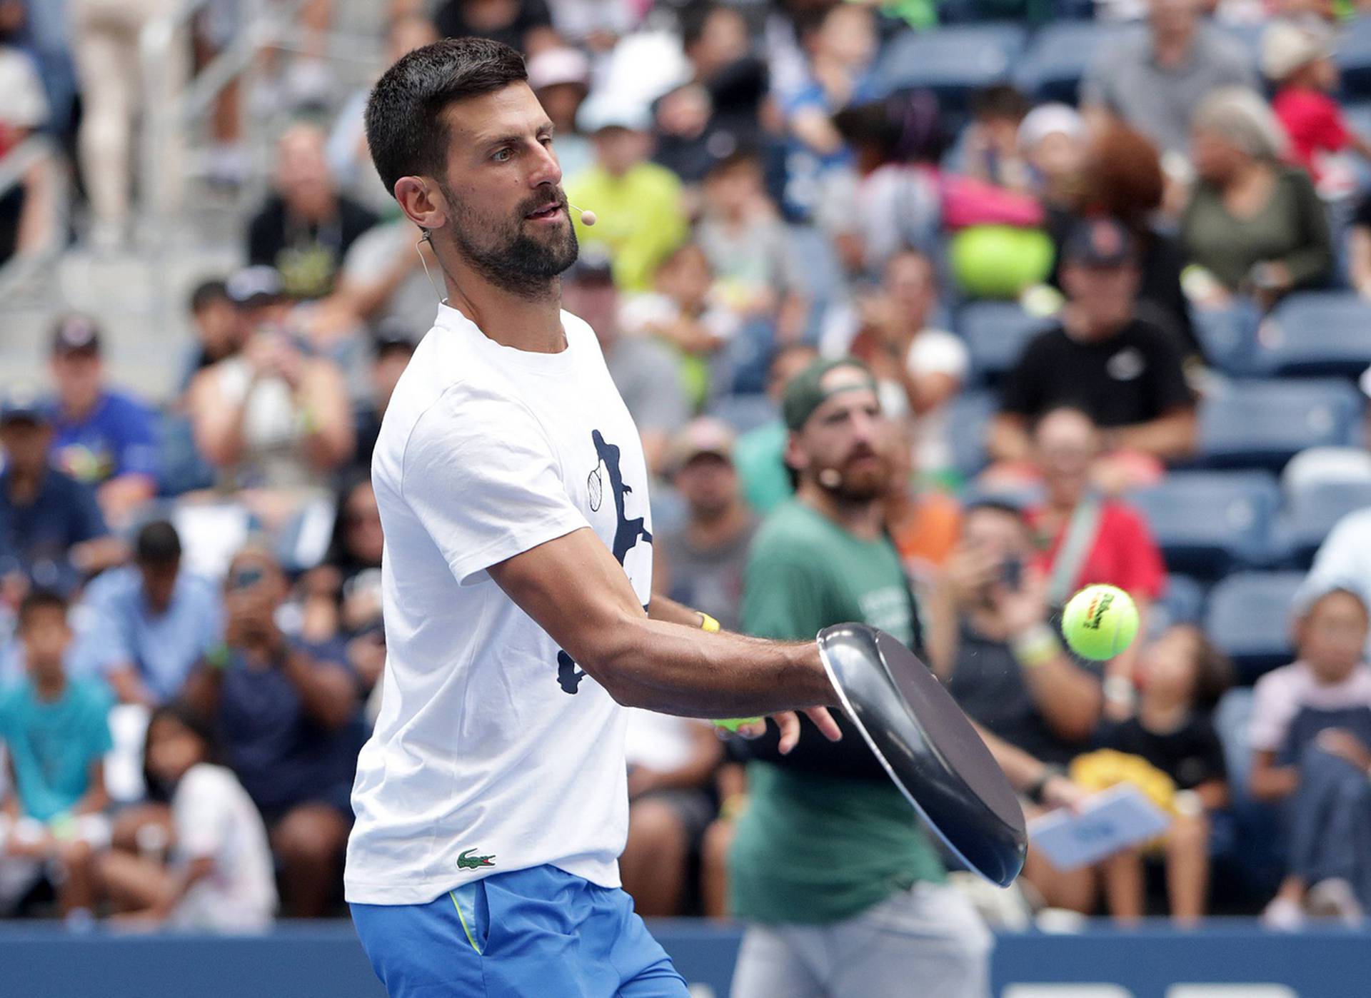
<path id="1" fill-rule="evenodd" d="M 171 801 L 171 854 L 108 851 L 101 891 L 122 923 L 258 932 L 276 912 L 276 877 L 262 816 L 232 770 L 215 764 L 214 732 L 182 703 L 148 722 L 144 768 Z"/>

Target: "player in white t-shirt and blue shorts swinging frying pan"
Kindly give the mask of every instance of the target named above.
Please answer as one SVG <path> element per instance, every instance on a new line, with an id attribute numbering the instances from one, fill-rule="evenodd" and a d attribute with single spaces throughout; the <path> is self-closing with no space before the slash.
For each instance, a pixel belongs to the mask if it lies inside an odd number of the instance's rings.
<path id="1" fill-rule="evenodd" d="M 576 236 L 520 55 L 406 55 L 366 137 L 447 299 L 372 462 L 387 668 L 352 791 L 358 934 L 392 998 L 683 998 L 620 888 L 620 705 L 810 709 L 838 738 L 818 706 L 836 695 L 812 640 L 710 633 L 650 598 L 647 469 L 595 334 L 559 307 Z M 776 720 L 794 744 L 798 717 Z"/>

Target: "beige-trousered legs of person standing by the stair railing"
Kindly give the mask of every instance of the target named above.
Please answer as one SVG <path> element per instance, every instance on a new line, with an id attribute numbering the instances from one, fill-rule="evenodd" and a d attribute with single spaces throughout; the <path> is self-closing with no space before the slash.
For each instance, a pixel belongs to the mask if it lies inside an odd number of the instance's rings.
<path id="1" fill-rule="evenodd" d="M 100 250 L 115 250 L 128 237 L 129 200 L 133 189 L 133 121 L 143 108 L 151 81 L 140 74 L 138 38 L 149 23 L 170 16 L 173 0 L 122 4 L 107 0 L 69 0 L 73 53 L 81 80 L 81 174 L 90 195 L 93 221 L 90 241 Z M 175 106 L 189 75 L 189 37 L 177 33 L 158 66 L 159 103 Z M 148 203 L 171 211 L 180 200 L 181 169 L 174 145 L 180 129 L 170 127 L 159 148 L 165 158 L 158 191 L 143 191 Z"/>

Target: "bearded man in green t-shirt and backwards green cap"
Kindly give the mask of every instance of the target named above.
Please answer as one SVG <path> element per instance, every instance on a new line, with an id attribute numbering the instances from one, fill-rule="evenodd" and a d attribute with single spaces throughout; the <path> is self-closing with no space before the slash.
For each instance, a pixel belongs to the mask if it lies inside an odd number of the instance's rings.
<path id="1" fill-rule="evenodd" d="M 871 373 L 812 363 L 786 388 L 795 498 L 753 544 L 743 631 L 812 639 L 864 621 L 919 647 L 899 555 L 884 531 L 890 426 Z M 984 998 L 991 936 L 945 883 L 938 853 L 861 736 L 749 743 L 750 802 L 731 853 L 731 905 L 747 923 L 732 998 Z M 1019 788 L 1071 799 L 1052 768 L 987 739 Z"/>

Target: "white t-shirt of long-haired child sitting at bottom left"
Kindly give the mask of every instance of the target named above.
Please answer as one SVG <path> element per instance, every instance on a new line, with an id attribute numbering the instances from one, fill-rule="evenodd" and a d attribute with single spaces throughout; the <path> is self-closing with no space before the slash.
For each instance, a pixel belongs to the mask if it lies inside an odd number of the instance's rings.
<path id="1" fill-rule="evenodd" d="M 181 928 L 251 932 L 276 912 L 276 875 L 266 828 L 237 777 L 200 762 L 171 798 L 175 862 L 210 857 L 214 873 L 197 880 L 171 913 Z"/>

